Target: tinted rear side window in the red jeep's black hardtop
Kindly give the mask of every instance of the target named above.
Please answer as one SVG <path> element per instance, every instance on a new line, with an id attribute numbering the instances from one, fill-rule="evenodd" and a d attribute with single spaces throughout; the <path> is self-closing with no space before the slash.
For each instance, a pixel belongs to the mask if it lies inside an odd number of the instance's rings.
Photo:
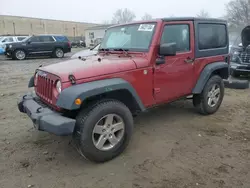
<path id="1" fill-rule="evenodd" d="M 224 24 L 198 25 L 199 50 L 227 47 L 227 30 Z"/>

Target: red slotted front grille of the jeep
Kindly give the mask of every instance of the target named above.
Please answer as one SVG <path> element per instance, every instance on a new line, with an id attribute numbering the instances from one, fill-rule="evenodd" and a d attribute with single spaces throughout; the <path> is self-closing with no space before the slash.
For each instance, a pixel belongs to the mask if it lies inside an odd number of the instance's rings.
<path id="1" fill-rule="evenodd" d="M 36 93 L 41 99 L 49 102 L 50 104 L 52 104 L 54 83 L 54 80 L 38 74 Z"/>

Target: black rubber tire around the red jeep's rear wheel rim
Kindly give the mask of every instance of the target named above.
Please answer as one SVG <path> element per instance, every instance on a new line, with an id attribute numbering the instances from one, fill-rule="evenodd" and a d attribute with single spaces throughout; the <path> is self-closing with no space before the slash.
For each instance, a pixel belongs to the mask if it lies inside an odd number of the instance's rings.
<path id="1" fill-rule="evenodd" d="M 217 104 L 214 107 L 210 107 L 207 101 L 208 92 L 209 92 L 209 89 L 216 83 L 220 87 L 220 97 L 219 97 Z M 223 80 L 220 76 L 214 75 L 207 81 L 201 94 L 193 95 L 193 105 L 197 109 L 197 111 L 203 115 L 213 114 L 219 109 L 222 103 L 223 97 L 224 97 Z"/>

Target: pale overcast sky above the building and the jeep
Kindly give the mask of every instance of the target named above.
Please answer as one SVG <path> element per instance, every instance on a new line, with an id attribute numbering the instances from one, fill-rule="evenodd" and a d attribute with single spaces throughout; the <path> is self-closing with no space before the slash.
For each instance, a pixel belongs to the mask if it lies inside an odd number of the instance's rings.
<path id="1" fill-rule="evenodd" d="M 229 0 L 0 0 L 0 14 L 102 23 L 111 20 L 119 8 L 128 8 L 140 19 L 145 13 L 154 18 L 195 16 L 201 9 L 212 17 L 225 14 Z"/>

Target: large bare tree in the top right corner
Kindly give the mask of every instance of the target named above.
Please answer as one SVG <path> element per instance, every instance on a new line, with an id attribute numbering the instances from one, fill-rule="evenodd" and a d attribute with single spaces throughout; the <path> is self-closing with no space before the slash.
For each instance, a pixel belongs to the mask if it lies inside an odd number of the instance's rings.
<path id="1" fill-rule="evenodd" d="M 250 24 L 250 0 L 231 0 L 226 5 L 227 19 L 231 27 Z"/>

